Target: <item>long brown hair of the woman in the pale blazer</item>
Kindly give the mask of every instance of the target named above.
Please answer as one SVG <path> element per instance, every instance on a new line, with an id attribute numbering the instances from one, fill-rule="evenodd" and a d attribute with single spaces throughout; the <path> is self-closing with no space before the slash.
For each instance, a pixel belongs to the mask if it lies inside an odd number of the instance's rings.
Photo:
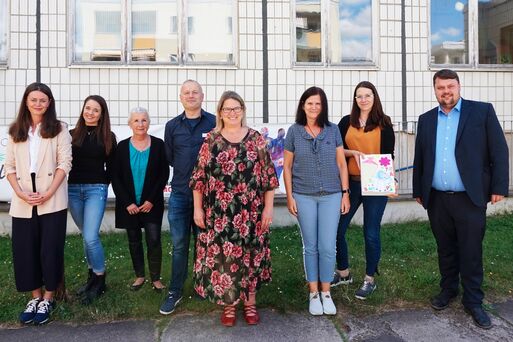
<path id="1" fill-rule="evenodd" d="M 9 135 L 12 137 L 14 142 L 23 142 L 28 139 L 28 132 L 30 126 L 32 125 L 32 115 L 27 107 L 27 98 L 29 94 L 33 91 L 40 91 L 48 96 L 48 100 L 50 101 L 46 112 L 43 115 L 43 121 L 41 122 L 41 137 L 53 138 L 57 136 L 62 129 L 61 122 L 57 120 L 57 113 L 55 111 L 55 99 L 53 98 L 52 91 L 50 87 L 48 87 L 44 83 L 34 82 L 29 84 L 25 89 L 25 93 L 23 93 L 23 98 L 21 99 L 20 108 L 18 110 L 18 115 L 14 122 L 9 126 Z"/>

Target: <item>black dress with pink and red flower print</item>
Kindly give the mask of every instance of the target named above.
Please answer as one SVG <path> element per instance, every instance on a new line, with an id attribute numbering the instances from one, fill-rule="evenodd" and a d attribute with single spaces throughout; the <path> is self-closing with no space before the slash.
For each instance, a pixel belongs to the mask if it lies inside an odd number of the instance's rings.
<path id="1" fill-rule="evenodd" d="M 271 280 L 269 229 L 262 228 L 266 191 L 278 179 L 265 138 L 249 129 L 240 143 L 212 131 L 201 146 L 190 186 L 203 194 L 206 229 L 196 244 L 194 288 L 218 304 L 246 300 Z"/>

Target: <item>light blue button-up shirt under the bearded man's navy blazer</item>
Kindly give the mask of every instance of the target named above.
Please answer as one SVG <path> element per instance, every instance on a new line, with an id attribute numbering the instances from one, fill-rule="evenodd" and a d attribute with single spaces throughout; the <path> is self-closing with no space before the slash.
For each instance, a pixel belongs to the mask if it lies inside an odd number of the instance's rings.
<path id="1" fill-rule="evenodd" d="M 435 169 L 432 186 L 440 191 L 465 191 L 456 164 L 456 134 L 461 116 L 461 98 L 448 114 L 438 106 Z"/>

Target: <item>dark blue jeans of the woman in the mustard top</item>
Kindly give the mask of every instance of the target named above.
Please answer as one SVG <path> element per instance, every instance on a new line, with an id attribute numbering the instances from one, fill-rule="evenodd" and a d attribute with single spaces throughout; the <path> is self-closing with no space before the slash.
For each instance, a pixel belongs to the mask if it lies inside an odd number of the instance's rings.
<path id="1" fill-rule="evenodd" d="M 385 212 L 388 197 L 386 196 L 362 196 L 361 182 L 349 181 L 351 194 L 351 209 L 349 213 L 340 216 L 337 232 L 337 269 L 349 268 L 349 257 L 346 241 L 346 232 L 360 204 L 363 204 L 363 234 L 365 238 L 365 273 L 373 277 L 378 270 L 381 258 L 381 219 Z"/>

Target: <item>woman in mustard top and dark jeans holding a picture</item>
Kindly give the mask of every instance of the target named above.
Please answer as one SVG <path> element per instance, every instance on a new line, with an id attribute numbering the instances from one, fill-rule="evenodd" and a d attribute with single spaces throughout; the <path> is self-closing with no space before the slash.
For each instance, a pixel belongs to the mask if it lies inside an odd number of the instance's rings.
<path id="1" fill-rule="evenodd" d="M 354 91 L 351 114 L 340 120 L 338 127 L 344 144 L 349 171 L 351 209 L 340 216 L 337 232 L 337 270 L 331 286 L 349 284 L 346 231 L 360 204 L 363 204 L 363 232 L 365 238 L 366 270 L 362 286 L 356 291 L 358 299 L 366 299 L 375 289 L 374 274 L 378 273 L 381 256 L 381 219 L 387 204 L 386 196 L 362 196 L 360 182 L 360 155 L 394 154 L 395 136 L 392 121 L 385 115 L 376 87 L 360 82 Z M 379 274 L 379 273 L 378 273 Z"/>

